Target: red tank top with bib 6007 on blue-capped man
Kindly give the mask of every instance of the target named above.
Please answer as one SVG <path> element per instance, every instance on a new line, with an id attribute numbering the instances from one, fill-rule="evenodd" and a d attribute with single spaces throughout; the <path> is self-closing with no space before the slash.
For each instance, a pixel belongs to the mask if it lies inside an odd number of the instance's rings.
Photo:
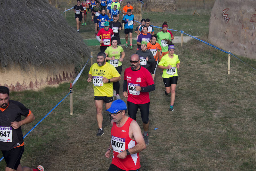
<path id="1" fill-rule="evenodd" d="M 133 121 L 132 118 L 128 118 L 122 127 L 117 127 L 116 123 L 113 123 L 111 129 L 111 144 L 113 148 L 112 164 L 123 170 L 136 170 L 141 167 L 139 153 L 131 154 L 126 158 L 121 159 L 117 157 L 117 154 L 126 149 L 134 147 L 137 143 L 129 137 L 129 127 Z"/>

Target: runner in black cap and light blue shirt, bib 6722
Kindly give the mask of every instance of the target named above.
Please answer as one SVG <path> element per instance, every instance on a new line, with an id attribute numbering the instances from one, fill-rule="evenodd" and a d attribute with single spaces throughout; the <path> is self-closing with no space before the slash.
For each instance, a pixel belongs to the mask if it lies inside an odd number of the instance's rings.
<path id="1" fill-rule="evenodd" d="M 134 23 L 134 15 L 131 14 L 131 9 L 127 10 L 127 14 L 123 16 L 122 23 L 125 23 L 125 48 L 128 47 L 128 34 L 130 39 L 130 49 L 133 49 L 133 25 Z"/>

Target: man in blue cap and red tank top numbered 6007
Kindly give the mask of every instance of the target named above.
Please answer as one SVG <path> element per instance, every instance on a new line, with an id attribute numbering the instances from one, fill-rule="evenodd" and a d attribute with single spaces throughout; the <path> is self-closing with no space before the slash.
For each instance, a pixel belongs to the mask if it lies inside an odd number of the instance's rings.
<path id="1" fill-rule="evenodd" d="M 138 123 L 125 115 L 127 110 L 123 100 L 115 100 L 107 110 L 111 121 L 111 141 L 105 156 L 113 151 L 109 171 L 137 170 L 141 167 L 139 152 L 146 149 Z"/>

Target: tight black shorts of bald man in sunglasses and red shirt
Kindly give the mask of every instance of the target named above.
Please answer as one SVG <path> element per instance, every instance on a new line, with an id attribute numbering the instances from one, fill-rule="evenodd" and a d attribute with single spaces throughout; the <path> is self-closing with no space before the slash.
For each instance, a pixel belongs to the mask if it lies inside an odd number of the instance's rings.
<path id="1" fill-rule="evenodd" d="M 141 111 L 141 119 L 143 123 L 148 123 L 149 121 L 149 103 L 145 104 L 135 104 L 132 102 L 127 102 L 127 109 L 128 109 L 128 115 L 130 118 L 136 120 L 136 114 L 138 112 L 138 108 L 140 108 Z"/>

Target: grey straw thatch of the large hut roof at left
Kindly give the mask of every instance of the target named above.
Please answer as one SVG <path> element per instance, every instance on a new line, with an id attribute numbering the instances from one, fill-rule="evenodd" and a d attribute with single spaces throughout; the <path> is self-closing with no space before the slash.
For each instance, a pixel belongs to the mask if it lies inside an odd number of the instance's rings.
<path id="1" fill-rule="evenodd" d="M 0 3 L 0 67 L 65 66 L 81 63 L 90 50 L 47 0 Z"/>

